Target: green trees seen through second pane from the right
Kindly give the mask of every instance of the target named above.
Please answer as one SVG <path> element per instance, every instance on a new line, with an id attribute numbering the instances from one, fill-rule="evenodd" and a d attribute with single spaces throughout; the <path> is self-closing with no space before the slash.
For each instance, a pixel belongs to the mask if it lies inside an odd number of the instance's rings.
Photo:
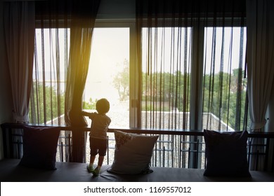
<path id="1" fill-rule="evenodd" d="M 188 73 L 143 73 L 143 102 L 150 111 L 189 111 L 190 76 Z M 159 104 L 155 104 L 159 103 Z M 150 106 L 154 104 L 155 106 Z M 145 109 L 145 107 L 143 107 Z"/>

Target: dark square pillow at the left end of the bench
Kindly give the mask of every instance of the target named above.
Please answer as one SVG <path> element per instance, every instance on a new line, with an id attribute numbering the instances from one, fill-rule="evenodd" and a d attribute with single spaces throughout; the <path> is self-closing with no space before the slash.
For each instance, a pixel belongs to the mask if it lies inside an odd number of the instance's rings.
<path id="1" fill-rule="evenodd" d="M 56 152 L 60 131 L 54 127 L 25 127 L 23 156 L 20 165 L 56 169 Z"/>

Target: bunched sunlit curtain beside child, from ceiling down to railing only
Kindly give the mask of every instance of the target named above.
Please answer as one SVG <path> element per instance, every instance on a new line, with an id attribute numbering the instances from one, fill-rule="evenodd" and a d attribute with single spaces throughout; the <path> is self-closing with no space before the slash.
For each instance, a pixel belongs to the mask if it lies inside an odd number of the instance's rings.
<path id="1" fill-rule="evenodd" d="M 90 8 L 87 15 L 80 14 L 83 5 Z M 84 116 L 81 116 L 82 96 L 89 71 L 92 34 L 100 1 L 91 1 L 83 5 L 74 5 L 77 14 L 72 16 L 70 29 L 70 59 L 65 94 L 65 122 L 74 127 L 87 125 Z"/>

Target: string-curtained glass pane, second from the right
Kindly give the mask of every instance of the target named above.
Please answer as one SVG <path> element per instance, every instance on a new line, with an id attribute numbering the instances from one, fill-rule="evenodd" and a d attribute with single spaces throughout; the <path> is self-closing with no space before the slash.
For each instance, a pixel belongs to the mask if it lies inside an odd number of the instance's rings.
<path id="1" fill-rule="evenodd" d="M 142 127 L 189 128 L 191 28 L 143 28 Z"/>

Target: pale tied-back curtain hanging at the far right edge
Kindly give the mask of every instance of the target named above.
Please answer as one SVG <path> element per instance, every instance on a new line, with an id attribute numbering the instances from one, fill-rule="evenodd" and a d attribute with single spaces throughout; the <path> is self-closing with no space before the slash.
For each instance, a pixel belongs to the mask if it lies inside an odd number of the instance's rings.
<path id="1" fill-rule="evenodd" d="M 247 90 L 251 130 L 263 132 L 274 78 L 274 1 L 247 0 Z M 263 144 L 254 139 L 252 144 Z M 262 147 L 252 153 L 264 153 Z M 253 156 L 250 169 L 263 169 L 263 157 Z"/>

